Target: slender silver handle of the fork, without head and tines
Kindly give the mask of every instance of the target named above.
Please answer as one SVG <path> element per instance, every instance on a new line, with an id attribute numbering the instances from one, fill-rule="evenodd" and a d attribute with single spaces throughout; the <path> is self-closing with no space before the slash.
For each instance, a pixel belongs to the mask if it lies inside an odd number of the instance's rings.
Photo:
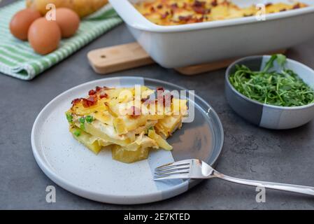
<path id="1" fill-rule="evenodd" d="M 214 172 L 213 176 L 223 179 L 225 181 L 233 182 L 233 183 L 240 183 L 247 186 L 255 186 L 255 187 L 264 187 L 274 190 L 285 190 L 294 193 L 301 193 L 305 195 L 314 195 L 314 188 L 309 186 L 299 186 L 299 185 L 292 185 L 286 183 L 273 183 L 273 182 L 266 182 L 266 181 L 251 181 L 246 179 L 238 179 L 231 176 L 226 176 L 224 174 L 220 174 L 219 172 Z"/>

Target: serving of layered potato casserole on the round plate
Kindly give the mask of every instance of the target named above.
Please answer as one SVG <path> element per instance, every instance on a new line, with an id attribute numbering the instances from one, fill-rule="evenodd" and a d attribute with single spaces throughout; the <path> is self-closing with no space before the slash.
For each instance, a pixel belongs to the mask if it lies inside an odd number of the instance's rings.
<path id="1" fill-rule="evenodd" d="M 162 87 L 96 87 L 73 100 L 66 118 L 73 137 L 92 152 L 110 148 L 113 159 L 131 163 L 152 148 L 173 149 L 166 139 L 182 126 L 186 104 Z"/>

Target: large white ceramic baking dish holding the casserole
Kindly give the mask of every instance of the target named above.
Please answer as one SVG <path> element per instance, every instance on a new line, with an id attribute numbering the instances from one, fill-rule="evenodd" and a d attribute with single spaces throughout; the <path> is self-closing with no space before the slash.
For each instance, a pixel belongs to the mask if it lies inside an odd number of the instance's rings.
<path id="1" fill-rule="evenodd" d="M 159 26 L 147 20 L 132 6 L 141 0 L 109 0 L 127 23 L 138 43 L 166 68 L 177 68 L 219 59 L 255 55 L 290 48 L 314 37 L 314 1 L 299 0 L 307 8 L 233 20 L 190 25 Z M 234 0 L 238 6 L 289 0 Z"/>

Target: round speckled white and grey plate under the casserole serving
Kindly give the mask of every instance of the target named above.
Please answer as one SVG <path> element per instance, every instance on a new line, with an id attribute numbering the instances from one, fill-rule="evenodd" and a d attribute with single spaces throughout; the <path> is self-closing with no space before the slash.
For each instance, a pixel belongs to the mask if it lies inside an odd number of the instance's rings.
<path id="1" fill-rule="evenodd" d="M 148 160 L 124 164 L 111 158 L 110 151 L 94 155 L 73 139 L 64 112 L 72 99 L 85 97 L 95 86 L 183 87 L 141 77 L 115 77 L 78 85 L 52 100 L 38 117 L 31 132 L 34 157 L 52 181 L 81 197 L 112 204 L 142 204 L 165 200 L 184 193 L 199 181 L 153 181 L 152 171 L 168 162 L 197 158 L 215 165 L 222 150 L 224 133 L 215 111 L 203 99 L 194 97 L 194 121 L 184 123 L 169 143 L 173 151 L 152 151 Z M 192 101 L 192 99 L 190 99 Z"/>

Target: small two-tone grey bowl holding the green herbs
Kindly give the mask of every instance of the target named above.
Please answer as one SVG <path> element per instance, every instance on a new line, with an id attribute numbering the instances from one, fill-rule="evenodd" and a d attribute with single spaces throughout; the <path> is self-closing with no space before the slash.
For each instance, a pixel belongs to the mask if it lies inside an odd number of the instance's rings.
<path id="1" fill-rule="evenodd" d="M 231 73 L 234 73 L 236 64 L 244 64 L 253 71 L 260 71 L 270 57 L 269 55 L 244 57 L 228 67 L 225 78 L 227 102 L 239 116 L 260 127 L 284 130 L 305 125 L 314 118 L 314 103 L 293 107 L 262 104 L 245 97 L 229 82 L 229 76 Z M 287 69 L 292 69 L 305 83 L 314 88 L 313 69 L 292 59 L 287 59 L 286 67 Z M 278 64 L 275 64 L 274 69 L 279 69 Z"/>

